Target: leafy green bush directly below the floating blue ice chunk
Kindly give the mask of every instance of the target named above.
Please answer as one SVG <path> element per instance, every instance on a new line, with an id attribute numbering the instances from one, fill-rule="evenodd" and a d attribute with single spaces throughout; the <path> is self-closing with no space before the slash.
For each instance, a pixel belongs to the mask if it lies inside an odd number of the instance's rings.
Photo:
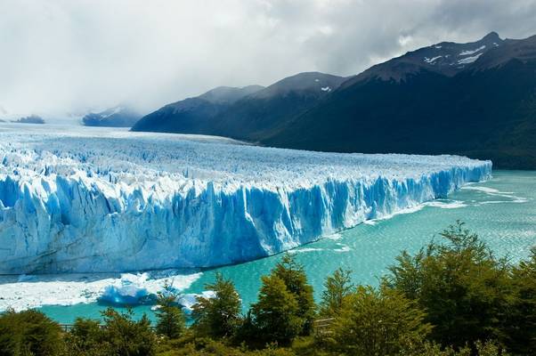
<path id="1" fill-rule="evenodd" d="M 113 308 L 102 312 L 104 337 L 110 343 L 110 354 L 117 356 L 151 356 L 156 353 L 156 336 L 145 314 L 133 320 L 131 309 L 120 313 Z"/>

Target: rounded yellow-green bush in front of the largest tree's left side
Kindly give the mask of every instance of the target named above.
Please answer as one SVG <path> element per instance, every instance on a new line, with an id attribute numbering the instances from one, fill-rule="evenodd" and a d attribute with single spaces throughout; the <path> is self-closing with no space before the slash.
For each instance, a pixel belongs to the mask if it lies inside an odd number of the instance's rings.
<path id="1" fill-rule="evenodd" d="M 404 354 L 423 344 L 432 330 L 425 317 L 417 303 L 400 292 L 360 286 L 343 298 L 328 343 L 338 352 L 356 356 Z"/>

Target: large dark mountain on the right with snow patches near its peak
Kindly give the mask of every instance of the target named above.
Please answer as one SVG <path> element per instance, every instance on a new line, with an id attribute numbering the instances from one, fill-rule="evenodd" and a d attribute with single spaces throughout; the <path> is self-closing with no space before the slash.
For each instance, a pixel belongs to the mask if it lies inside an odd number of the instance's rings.
<path id="1" fill-rule="evenodd" d="M 259 141 L 341 152 L 460 154 L 536 168 L 536 36 L 443 42 L 378 64 Z"/>

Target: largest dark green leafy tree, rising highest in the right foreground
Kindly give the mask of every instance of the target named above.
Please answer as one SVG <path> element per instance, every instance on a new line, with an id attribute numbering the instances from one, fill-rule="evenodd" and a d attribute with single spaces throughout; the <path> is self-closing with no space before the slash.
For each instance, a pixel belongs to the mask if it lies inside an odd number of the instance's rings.
<path id="1" fill-rule="evenodd" d="M 508 312 L 509 268 L 458 222 L 412 256 L 403 253 L 390 268 L 389 284 L 426 310 L 432 338 L 443 346 L 500 339 Z"/>

